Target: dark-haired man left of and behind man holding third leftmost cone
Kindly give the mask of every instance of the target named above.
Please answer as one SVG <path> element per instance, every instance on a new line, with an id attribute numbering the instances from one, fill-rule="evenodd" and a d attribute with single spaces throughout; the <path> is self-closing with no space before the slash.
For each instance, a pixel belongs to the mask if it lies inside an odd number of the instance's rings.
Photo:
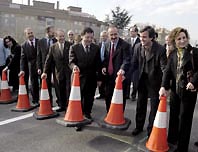
<path id="1" fill-rule="evenodd" d="M 56 38 L 54 38 L 54 27 L 49 26 L 45 29 L 46 32 L 46 37 L 40 39 L 38 41 L 38 46 L 37 46 L 37 69 L 38 69 L 38 74 L 41 75 L 44 64 L 45 64 L 45 59 L 47 57 L 47 54 L 49 52 L 50 46 L 52 46 L 55 42 L 57 42 Z M 51 75 L 52 71 L 49 70 L 49 73 L 47 73 L 47 86 L 48 86 L 48 91 L 49 91 L 49 96 L 50 96 L 50 101 L 51 105 L 53 105 L 53 97 L 52 97 L 52 83 L 51 83 Z"/>

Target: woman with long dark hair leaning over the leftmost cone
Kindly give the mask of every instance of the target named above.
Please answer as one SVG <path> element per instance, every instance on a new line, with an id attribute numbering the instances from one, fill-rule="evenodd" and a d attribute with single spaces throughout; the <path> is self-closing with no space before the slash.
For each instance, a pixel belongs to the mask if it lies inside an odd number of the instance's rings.
<path id="1" fill-rule="evenodd" d="M 4 71 L 10 70 L 8 83 L 13 86 L 13 91 L 16 91 L 19 88 L 18 74 L 20 72 L 21 46 L 11 36 L 6 36 L 3 41 L 4 46 L 10 49 L 10 55 L 6 61 Z"/>

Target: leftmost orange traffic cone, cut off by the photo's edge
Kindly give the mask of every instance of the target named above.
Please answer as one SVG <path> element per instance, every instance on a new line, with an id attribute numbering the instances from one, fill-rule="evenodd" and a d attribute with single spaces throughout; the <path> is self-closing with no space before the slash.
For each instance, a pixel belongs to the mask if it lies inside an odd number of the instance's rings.
<path id="1" fill-rule="evenodd" d="M 6 71 L 2 71 L 0 104 L 16 102 L 17 97 L 12 97 L 8 86 Z"/>

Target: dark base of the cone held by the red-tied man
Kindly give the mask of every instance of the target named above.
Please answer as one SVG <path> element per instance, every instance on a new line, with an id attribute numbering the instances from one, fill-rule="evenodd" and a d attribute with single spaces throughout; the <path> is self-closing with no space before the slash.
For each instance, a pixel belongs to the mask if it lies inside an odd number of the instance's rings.
<path id="1" fill-rule="evenodd" d="M 128 118 L 124 118 L 124 121 L 125 123 L 122 125 L 112 125 L 112 124 L 105 122 L 105 120 L 103 120 L 99 123 L 99 125 L 103 128 L 108 128 L 108 129 L 127 130 L 131 124 L 131 120 Z"/>

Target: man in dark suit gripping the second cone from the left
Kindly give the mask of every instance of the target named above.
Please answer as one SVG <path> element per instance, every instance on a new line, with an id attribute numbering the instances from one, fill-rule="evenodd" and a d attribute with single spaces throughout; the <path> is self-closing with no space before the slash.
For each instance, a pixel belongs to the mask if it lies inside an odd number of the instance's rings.
<path id="1" fill-rule="evenodd" d="M 26 41 L 21 45 L 21 60 L 20 60 L 20 73 L 19 76 L 25 76 L 26 88 L 28 91 L 28 80 L 30 76 L 31 81 L 31 94 L 32 103 L 38 104 L 39 102 L 39 83 L 36 67 L 37 59 L 37 43 L 38 39 L 34 37 L 34 33 L 31 28 L 24 30 Z"/>

